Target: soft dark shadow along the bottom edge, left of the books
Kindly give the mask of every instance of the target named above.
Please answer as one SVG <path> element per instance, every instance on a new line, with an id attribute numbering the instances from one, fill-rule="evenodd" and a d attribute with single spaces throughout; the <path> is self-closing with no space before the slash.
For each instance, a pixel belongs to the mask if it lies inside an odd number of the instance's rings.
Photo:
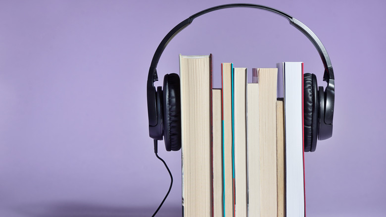
<path id="1" fill-rule="evenodd" d="M 15 208 L 27 217 L 151 217 L 154 207 L 114 207 L 84 203 L 58 202 Z M 181 208 L 162 207 L 156 217 L 181 217 Z"/>

